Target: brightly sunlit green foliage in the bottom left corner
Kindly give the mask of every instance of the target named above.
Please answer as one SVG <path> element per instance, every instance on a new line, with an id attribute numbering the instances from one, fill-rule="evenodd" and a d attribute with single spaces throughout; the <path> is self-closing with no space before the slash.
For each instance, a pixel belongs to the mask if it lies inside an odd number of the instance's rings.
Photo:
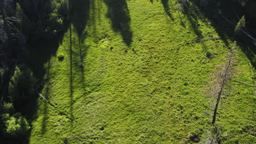
<path id="1" fill-rule="evenodd" d="M 2 120 L 5 124 L 5 133 L 11 136 L 22 136 L 26 135 L 30 129 L 25 117 L 21 116 L 20 113 L 15 113 L 10 116 L 9 113 L 2 115 Z"/>

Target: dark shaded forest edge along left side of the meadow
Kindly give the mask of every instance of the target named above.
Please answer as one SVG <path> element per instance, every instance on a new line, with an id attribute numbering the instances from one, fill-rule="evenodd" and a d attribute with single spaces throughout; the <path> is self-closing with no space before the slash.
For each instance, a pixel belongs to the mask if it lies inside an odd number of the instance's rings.
<path id="1" fill-rule="evenodd" d="M 15 143 L 30 133 L 44 63 L 68 28 L 68 1 L 3 0 L 0 8 L 0 138 Z"/>

